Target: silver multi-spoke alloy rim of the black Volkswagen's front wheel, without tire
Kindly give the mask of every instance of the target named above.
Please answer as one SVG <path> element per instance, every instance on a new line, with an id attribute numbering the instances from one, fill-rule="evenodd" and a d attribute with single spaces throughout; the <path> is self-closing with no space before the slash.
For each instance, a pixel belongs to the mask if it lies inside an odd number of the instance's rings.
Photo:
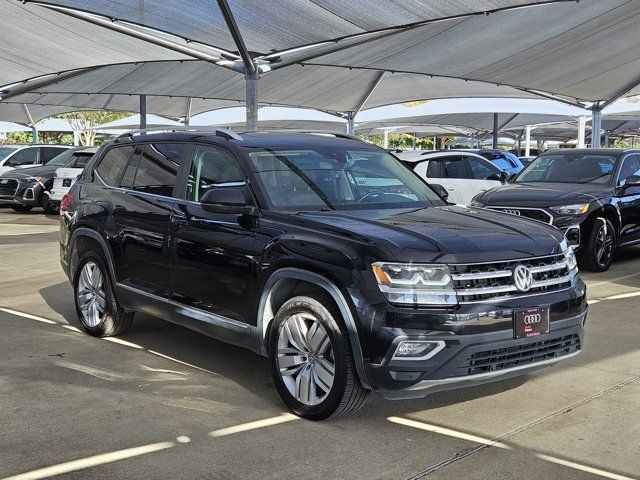
<path id="1" fill-rule="evenodd" d="M 335 358 L 329 334 L 312 314 L 296 313 L 278 334 L 278 369 L 289 393 L 304 405 L 324 401 L 335 378 Z"/>

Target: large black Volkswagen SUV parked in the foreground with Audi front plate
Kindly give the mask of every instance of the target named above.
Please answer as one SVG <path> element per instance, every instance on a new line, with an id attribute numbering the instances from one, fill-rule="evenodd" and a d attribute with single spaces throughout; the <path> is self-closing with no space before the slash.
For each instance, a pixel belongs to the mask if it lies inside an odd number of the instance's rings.
<path id="1" fill-rule="evenodd" d="M 63 199 L 60 254 L 87 333 L 145 312 L 249 348 L 314 420 L 572 357 L 587 314 L 560 230 L 340 134 L 120 136 Z"/>

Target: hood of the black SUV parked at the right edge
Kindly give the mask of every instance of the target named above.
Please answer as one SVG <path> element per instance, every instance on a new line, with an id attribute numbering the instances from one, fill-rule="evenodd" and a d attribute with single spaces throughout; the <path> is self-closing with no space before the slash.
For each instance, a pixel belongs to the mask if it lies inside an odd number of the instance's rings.
<path id="1" fill-rule="evenodd" d="M 475 200 L 489 206 L 551 207 L 588 203 L 610 191 L 608 185 L 590 183 L 511 183 L 489 190 Z"/>

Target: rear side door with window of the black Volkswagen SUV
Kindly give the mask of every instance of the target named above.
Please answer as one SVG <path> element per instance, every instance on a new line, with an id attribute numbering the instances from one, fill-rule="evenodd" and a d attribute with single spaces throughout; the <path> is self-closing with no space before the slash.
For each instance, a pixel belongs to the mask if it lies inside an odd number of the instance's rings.
<path id="1" fill-rule="evenodd" d="M 168 296 L 173 191 L 188 148 L 184 143 L 138 145 L 122 175 L 121 189 L 112 193 L 120 247 L 116 272 L 118 282 L 125 287 Z"/>

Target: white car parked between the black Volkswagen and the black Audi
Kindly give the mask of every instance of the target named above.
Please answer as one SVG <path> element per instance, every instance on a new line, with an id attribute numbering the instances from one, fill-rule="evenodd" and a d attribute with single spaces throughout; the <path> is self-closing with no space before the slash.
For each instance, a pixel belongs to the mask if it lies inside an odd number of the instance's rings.
<path id="1" fill-rule="evenodd" d="M 508 174 L 475 153 L 460 151 L 395 154 L 427 183 L 441 185 L 449 202 L 469 205 L 479 193 L 506 183 Z"/>

